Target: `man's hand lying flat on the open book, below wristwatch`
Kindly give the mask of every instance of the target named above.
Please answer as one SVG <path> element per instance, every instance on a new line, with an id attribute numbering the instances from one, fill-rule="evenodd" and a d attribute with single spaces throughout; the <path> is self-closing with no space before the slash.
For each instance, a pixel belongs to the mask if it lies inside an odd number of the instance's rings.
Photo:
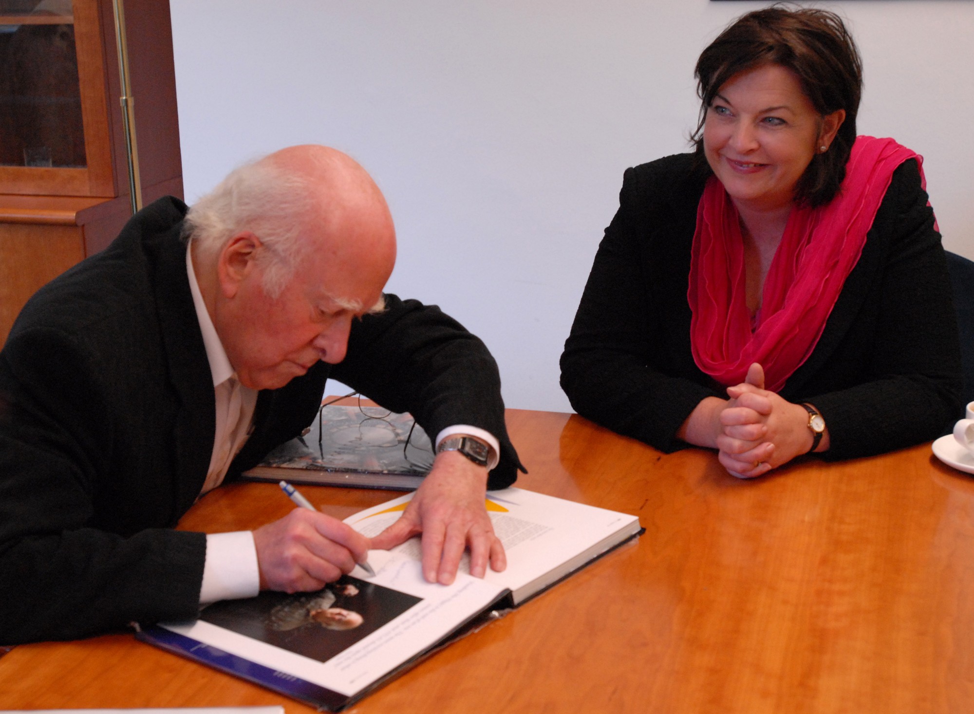
<path id="1" fill-rule="evenodd" d="M 372 547 L 389 549 L 423 534 L 423 576 L 448 585 L 457 577 L 464 549 L 470 549 L 470 575 L 483 578 L 487 561 L 502 571 L 507 566 L 504 546 L 484 504 L 487 470 L 456 451 L 436 455 L 430 475 L 423 479 L 402 516 L 372 539 Z"/>

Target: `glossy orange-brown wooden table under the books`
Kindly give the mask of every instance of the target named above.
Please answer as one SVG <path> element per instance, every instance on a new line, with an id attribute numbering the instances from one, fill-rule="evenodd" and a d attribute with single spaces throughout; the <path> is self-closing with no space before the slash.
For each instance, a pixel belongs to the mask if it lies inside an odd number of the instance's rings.
<path id="1" fill-rule="evenodd" d="M 646 534 L 353 707 L 368 712 L 963 712 L 974 707 L 974 480 L 929 445 L 732 478 L 567 414 L 510 410 L 518 485 L 636 513 Z M 394 494 L 326 487 L 344 518 Z M 180 527 L 283 515 L 271 484 Z M 131 635 L 20 646 L 0 708 L 283 703 Z"/>

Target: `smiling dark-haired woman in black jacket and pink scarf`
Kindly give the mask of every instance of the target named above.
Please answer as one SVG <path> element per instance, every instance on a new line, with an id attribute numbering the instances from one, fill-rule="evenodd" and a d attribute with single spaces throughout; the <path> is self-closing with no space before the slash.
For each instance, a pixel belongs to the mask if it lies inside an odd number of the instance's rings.
<path id="1" fill-rule="evenodd" d="M 744 477 L 941 433 L 960 360 L 922 159 L 856 136 L 842 19 L 748 13 L 695 74 L 694 152 L 625 172 L 561 359 L 572 405 Z"/>

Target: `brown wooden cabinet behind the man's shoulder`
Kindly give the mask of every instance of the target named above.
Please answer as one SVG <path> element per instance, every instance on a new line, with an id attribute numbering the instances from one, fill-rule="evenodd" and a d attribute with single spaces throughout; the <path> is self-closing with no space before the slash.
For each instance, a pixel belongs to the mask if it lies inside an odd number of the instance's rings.
<path id="1" fill-rule="evenodd" d="M 125 0 L 140 184 L 182 198 L 168 0 Z M 131 216 L 111 0 L 0 0 L 0 344 Z"/>

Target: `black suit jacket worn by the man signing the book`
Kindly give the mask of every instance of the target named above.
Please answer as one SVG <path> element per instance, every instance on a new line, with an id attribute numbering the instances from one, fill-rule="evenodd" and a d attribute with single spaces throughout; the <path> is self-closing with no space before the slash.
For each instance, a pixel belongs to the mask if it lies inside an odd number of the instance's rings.
<path id="1" fill-rule="evenodd" d="M 27 303 L 0 353 L 0 644 L 197 613 L 206 537 L 171 527 L 203 487 L 215 412 L 185 212 L 172 198 L 140 211 Z M 435 307 L 387 305 L 355 324 L 341 364 L 259 394 L 228 479 L 307 426 L 332 376 L 431 434 L 496 434 L 490 486 L 513 482 L 520 464 L 483 343 Z"/>

